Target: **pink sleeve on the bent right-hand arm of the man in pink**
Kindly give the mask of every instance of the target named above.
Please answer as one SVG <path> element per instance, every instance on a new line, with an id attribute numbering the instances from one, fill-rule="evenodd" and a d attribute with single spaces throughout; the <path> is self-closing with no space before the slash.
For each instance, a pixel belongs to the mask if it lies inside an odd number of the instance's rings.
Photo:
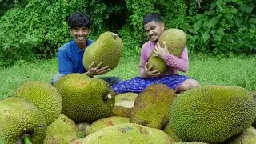
<path id="1" fill-rule="evenodd" d="M 163 60 L 170 67 L 176 70 L 186 72 L 189 67 L 187 48 L 182 51 L 181 56 L 178 58 L 172 54 L 165 54 Z"/>

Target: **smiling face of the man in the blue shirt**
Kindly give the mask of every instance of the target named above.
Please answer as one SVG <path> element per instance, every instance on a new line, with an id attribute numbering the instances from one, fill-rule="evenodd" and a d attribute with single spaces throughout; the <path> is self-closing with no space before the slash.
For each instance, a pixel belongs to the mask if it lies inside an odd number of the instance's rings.
<path id="1" fill-rule="evenodd" d="M 74 41 L 78 45 L 82 45 L 86 43 L 86 40 L 88 38 L 88 35 L 90 33 L 90 28 L 88 27 L 74 27 L 73 29 L 70 29 L 70 33 L 74 37 Z"/>

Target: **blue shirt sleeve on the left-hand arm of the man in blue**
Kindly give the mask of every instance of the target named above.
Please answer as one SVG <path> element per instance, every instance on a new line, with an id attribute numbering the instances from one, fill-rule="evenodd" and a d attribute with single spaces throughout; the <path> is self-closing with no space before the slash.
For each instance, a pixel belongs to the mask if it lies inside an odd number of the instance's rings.
<path id="1" fill-rule="evenodd" d="M 71 74 L 73 71 L 73 63 L 70 55 L 65 50 L 58 50 L 58 72 L 60 74 Z"/>

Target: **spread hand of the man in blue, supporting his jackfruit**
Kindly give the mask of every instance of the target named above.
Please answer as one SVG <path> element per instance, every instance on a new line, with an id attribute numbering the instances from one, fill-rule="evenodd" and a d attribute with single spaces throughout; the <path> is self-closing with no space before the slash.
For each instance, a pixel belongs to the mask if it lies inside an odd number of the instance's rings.
<path id="1" fill-rule="evenodd" d="M 92 62 L 89 66 L 89 70 L 84 73 L 89 77 L 94 77 L 94 75 L 101 75 L 106 74 L 110 70 L 110 66 L 105 66 L 99 69 L 100 66 L 102 66 L 103 62 L 100 62 L 98 66 L 94 67 L 94 62 Z"/>

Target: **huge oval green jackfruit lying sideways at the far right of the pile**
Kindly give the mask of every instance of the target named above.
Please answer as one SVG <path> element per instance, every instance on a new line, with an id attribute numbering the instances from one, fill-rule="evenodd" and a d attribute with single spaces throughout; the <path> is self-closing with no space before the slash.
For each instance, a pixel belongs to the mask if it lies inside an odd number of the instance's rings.
<path id="1" fill-rule="evenodd" d="M 220 143 L 251 126 L 256 104 L 239 86 L 198 86 L 175 98 L 170 129 L 183 141 Z"/>

